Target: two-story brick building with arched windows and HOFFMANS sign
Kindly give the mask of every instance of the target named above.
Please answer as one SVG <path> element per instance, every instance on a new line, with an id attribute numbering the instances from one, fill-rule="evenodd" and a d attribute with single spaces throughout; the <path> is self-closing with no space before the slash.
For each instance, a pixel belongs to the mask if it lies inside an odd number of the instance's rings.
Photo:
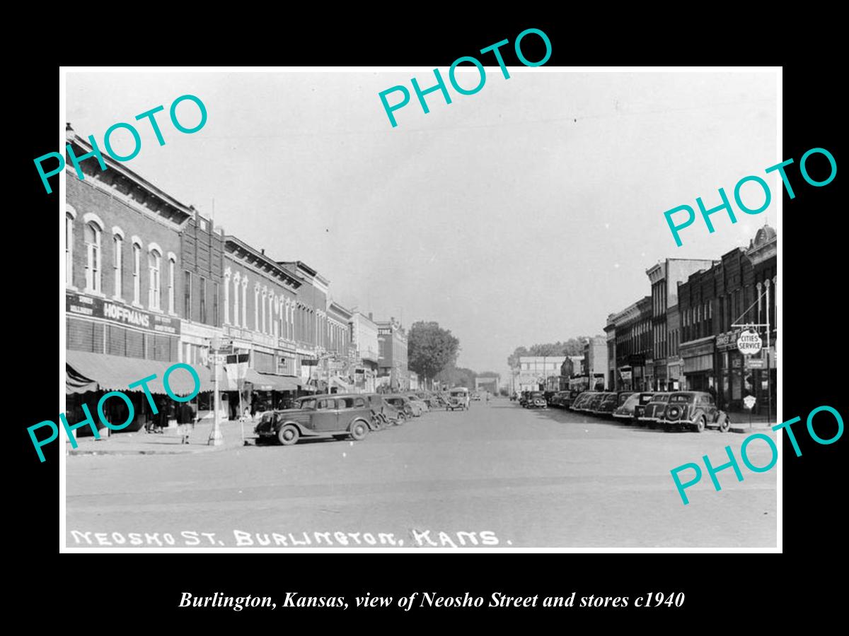
<path id="1" fill-rule="evenodd" d="M 70 127 L 67 141 L 76 157 L 93 152 Z M 194 211 L 108 155 L 103 160 L 106 170 L 94 157 L 83 159 L 82 180 L 70 157 L 65 168 L 67 410 L 81 421 L 81 404 L 106 391 L 123 391 L 133 403 L 134 418 L 125 429 L 132 431 L 153 414 L 143 389 L 128 385 L 155 374 L 150 391 L 166 404 L 163 374 L 181 360 L 178 254 L 180 232 Z M 188 372 L 170 379 L 175 393 L 193 392 Z M 120 403 L 113 399 L 107 405 L 126 411 Z M 161 411 L 167 424 L 167 408 Z M 113 421 L 124 421 L 128 413 L 113 415 L 118 418 Z"/>

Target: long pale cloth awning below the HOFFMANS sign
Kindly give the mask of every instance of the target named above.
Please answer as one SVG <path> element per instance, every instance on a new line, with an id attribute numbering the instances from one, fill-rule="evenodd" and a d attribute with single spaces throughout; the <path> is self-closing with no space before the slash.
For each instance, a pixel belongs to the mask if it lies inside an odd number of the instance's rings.
<path id="1" fill-rule="evenodd" d="M 86 393 L 87 391 L 143 391 L 142 385 L 130 388 L 130 384 L 144 377 L 156 376 L 147 382 L 150 393 L 166 394 L 162 377 L 173 362 L 123 358 L 119 355 L 93 354 L 88 351 L 67 350 L 65 352 L 65 392 Z M 201 385 L 208 379 L 205 367 L 193 367 L 200 377 Z M 185 369 L 176 369 L 168 377 L 168 386 L 176 395 L 194 393 L 194 379 Z"/>

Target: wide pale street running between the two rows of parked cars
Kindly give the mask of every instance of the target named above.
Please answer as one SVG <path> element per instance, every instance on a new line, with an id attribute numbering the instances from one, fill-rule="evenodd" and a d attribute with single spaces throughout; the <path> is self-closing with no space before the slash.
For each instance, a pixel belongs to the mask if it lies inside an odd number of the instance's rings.
<path id="1" fill-rule="evenodd" d="M 722 471 L 717 493 L 702 466 L 686 506 L 670 477 L 702 455 L 725 463 L 726 444 L 739 458 L 745 437 L 664 433 L 495 399 L 468 412 L 431 412 L 359 443 L 69 456 L 67 541 L 773 547 L 776 469 L 754 474 L 740 460 L 745 481 Z M 767 445 L 751 444 L 749 457 L 765 466 Z"/>

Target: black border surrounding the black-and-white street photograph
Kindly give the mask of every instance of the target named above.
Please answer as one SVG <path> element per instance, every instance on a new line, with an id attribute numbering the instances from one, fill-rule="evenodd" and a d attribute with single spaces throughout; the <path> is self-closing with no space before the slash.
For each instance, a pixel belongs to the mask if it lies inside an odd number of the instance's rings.
<path id="1" fill-rule="evenodd" d="M 413 20 L 397 11 L 386 8 L 385 14 L 376 18 L 335 15 L 333 22 L 340 26 L 333 28 L 326 16 L 303 20 L 286 15 L 268 20 L 269 25 L 259 25 L 267 16 L 222 19 L 220 14 L 212 18 L 203 14 L 193 21 L 181 20 L 175 14 L 163 18 L 167 24 L 113 20 L 108 31 L 106 25 L 98 31 L 87 16 L 65 16 L 58 52 L 45 45 L 43 53 L 33 53 L 28 65 L 15 71 L 17 80 L 8 80 L 8 86 L 14 87 L 11 101 L 17 112 L 14 120 L 7 120 L 7 126 L 17 139 L 14 150 L 7 151 L 12 156 L 4 161 L 7 169 L 11 167 L 8 191 L 14 192 L 14 207 L 7 210 L 14 232 L 14 237 L 7 237 L 13 253 L 7 267 L 14 262 L 22 269 L 6 271 L 6 310 L 9 315 L 18 315 L 14 322 L 21 323 L 7 327 L 11 345 L 7 351 L 11 385 L 6 392 L 7 433 L 8 438 L 16 439 L 13 450 L 17 460 L 8 481 L 13 503 L 7 509 L 11 512 L 7 548 L 20 559 L 14 561 L 20 563 L 14 567 L 14 583 L 20 591 L 14 594 L 14 603 L 8 600 L 7 612 L 17 613 L 31 605 L 29 611 L 36 612 L 28 614 L 32 617 L 38 616 L 42 607 L 55 605 L 57 614 L 61 612 L 69 623 L 85 620 L 89 627 L 108 628 L 122 628 L 124 624 L 205 627 L 208 623 L 246 627 L 260 620 L 270 621 L 275 628 L 277 623 L 279 628 L 291 627 L 293 620 L 312 622 L 312 628 L 330 621 L 343 627 L 358 624 L 380 628 L 383 618 L 393 615 L 400 619 L 399 627 L 408 628 L 432 623 L 450 629 L 469 623 L 473 628 L 492 624 L 512 629 L 537 625 L 548 617 L 553 619 L 550 625 L 554 629 L 606 626 L 611 620 L 633 626 L 635 619 L 641 625 L 680 626 L 683 618 L 699 617 L 714 619 L 702 623 L 706 628 L 724 629 L 746 622 L 767 625 L 769 616 L 791 603 L 806 605 L 809 611 L 828 611 L 835 604 L 836 591 L 822 577 L 830 577 L 833 555 L 843 552 L 844 528 L 837 520 L 845 488 L 838 471 L 838 455 L 846 442 L 814 444 L 805 432 L 804 421 L 810 410 L 822 404 L 849 413 L 840 337 L 849 287 L 844 276 L 846 206 L 840 196 L 846 168 L 842 167 L 838 139 L 841 117 L 837 112 L 843 73 L 837 71 L 831 56 L 835 46 L 831 42 L 839 40 L 829 40 L 820 25 L 808 31 L 801 17 L 791 20 L 794 16 L 786 14 L 783 35 L 779 36 L 779 31 L 767 28 L 771 23 L 763 21 L 763 12 L 742 14 L 739 9 L 717 15 L 706 7 L 704 16 L 677 26 L 652 24 L 644 15 L 614 15 L 612 8 L 608 15 L 593 20 L 573 14 L 571 9 L 563 10 L 556 19 L 549 15 L 547 20 L 540 20 L 520 19 L 490 7 L 487 14 L 504 14 L 503 19 L 486 24 L 475 20 L 467 25 L 436 9 L 431 12 L 426 5 L 423 12 L 432 13 L 432 20 Z M 210 9 L 210 13 L 218 12 Z M 328 9 L 328 13 L 332 12 Z M 719 17 L 721 24 L 704 24 Z M 552 42 L 553 53 L 546 66 L 784 66 L 784 150 L 776 163 L 796 160 L 787 170 L 796 198 L 790 200 L 784 193 L 783 232 L 779 234 L 784 259 L 779 274 L 784 316 L 779 325 L 779 364 L 783 370 L 784 418 L 801 416 L 794 429 L 803 453 L 797 458 L 785 439 L 784 554 L 59 555 L 59 449 L 64 444 L 46 449 L 48 461 L 40 464 L 25 430 L 37 421 L 55 420 L 57 404 L 53 399 L 57 383 L 61 386 L 59 373 L 64 371 L 53 358 L 55 341 L 50 335 L 56 329 L 53 311 L 57 301 L 60 308 L 64 306 L 62 287 L 51 284 L 59 276 L 59 260 L 53 248 L 47 248 L 47 244 L 54 244 L 56 226 L 48 220 L 56 218 L 56 193 L 45 194 L 32 163 L 33 158 L 57 149 L 59 64 L 417 65 L 444 70 L 454 59 L 507 38 L 511 46 L 502 51 L 506 64 L 512 66 L 519 64 L 512 53 L 512 42 L 531 26 L 545 31 Z M 816 32 L 816 38 L 812 36 L 810 42 L 800 39 L 807 32 Z M 542 48 L 534 50 L 535 41 L 534 36 L 523 41 L 523 50 L 531 60 L 543 54 Z M 489 59 L 484 62 L 492 63 Z M 837 161 L 838 175 L 826 187 L 807 185 L 798 171 L 801 155 L 816 147 L 829 149 Z M 700 148 L 693 148 L 693 152 L 700 152 Z M 698 182 L 698 176 L 694 176 L 694 182 Z M 727 184 L 726 189 L 733 185 Z M 61 232 L 59 237 L 61 241 Z M 14 286 L 20 292 L 27 288 L 25 285 L 31 286 L 31 293 L 14 292 Z M 13 334 L 22 335 L 12 338 Z M 53 360 L 57 360 L 56 366 Z M 835 425 L 829 425 L 828 416 L 819 417 L 820 436 L 831 437 Z M 739 439 L 742 441 L 742 437 Z M 606 611 L 178 611 L 183 591 L 275 597 L 298 591 L 305 595 L 345 595 L 349 601 L 367 591 L 396 598 L 413 591 L 451 596 L 469 592 L 487 601 L 495 591 L 539 594 L 541 600 L 575 591 L 578 597 L 628 596 L 632 605 L 627 610 Z M 634 597 L 657 591 L 683 592 L 683 608 L 633 608 Z"/>

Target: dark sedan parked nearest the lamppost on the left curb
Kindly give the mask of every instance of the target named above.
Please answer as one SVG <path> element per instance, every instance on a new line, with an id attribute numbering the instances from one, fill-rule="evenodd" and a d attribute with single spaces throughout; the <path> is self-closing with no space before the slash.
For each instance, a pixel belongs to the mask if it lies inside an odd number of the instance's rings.
<path id="1" fill-rule="evenodd" d="M 294 409 L 270 410 L 262 414 L 254 432 L 260 440 L 276 438 L 291 446 L 301 438 L 351 437 L 357 441 L 368 434 L 372 407 L 363 395 L 315 395 L 295 401 Z"/>

